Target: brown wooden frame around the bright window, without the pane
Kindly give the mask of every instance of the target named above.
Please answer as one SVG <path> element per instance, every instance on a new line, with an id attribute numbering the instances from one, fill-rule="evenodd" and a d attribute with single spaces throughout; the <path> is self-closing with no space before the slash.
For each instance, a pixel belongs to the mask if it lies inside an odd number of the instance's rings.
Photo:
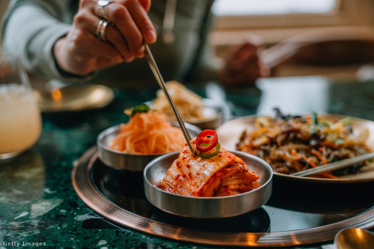
<path id="1" fill-rule="evenodd" d="M 288 14 L 267 16 L 218 16 L 210 33 L 210 44 L 224 51 L 241 44 L 248 34 L 260 36 L 266 46 L 289 37 L 335 28 L 374 27 L 374 2 L 371 0 L 339 0 L 336 9 L 326 14 Z"/>

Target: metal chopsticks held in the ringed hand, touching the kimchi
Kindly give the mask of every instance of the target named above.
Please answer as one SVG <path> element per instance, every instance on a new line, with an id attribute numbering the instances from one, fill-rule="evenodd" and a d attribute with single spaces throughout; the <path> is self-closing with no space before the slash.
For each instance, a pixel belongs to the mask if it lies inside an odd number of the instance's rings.
<path id="1" fill-rule="evenodd" d="M 186 129 L 185 123 L 183 122 L 181 116 L 179 115 L 179 112 L 178 112 L 177 108 L 174 105 L 173 100 L 170 97 L 169 91 L 166 88 L 165 82 L 162 79 L 162 76 L 161 76 L 161 74 L 160 74 L 160 72 L 158 70 L 158 67 L 156 65 L 155 59 L 153 58 L 151 50 L 148 47 L 148 44 L 144 43 L 144 47 L 145 47 L 145 57 L 146 57 L 146 59 L 148 61 L 148 64 L 151 67 L 152 72 L 155 75 L 155 78 L 156 78 L 158 84 L 160 85 L 161 89 L 165 93 L 165 96 L 166 96 L 167 100 L 169 101 L 169 104 L 170 104 L 171 108 L 173 109 L 173 111 L 175 113 L 175 116 L 177 117 L 177 121 L 178 121 L 179 127 L 181 128 L 183 136 L 186 139 L 186 142 L 187 142 L 187 145 L 189 147 L 189 150 L 191 151 L 192 155 L 194 155 L 195 153 L 193 151 L 193 148 L 192 148 L 192 145 L 191 145 L 191 142 L 190 142 L 191 137 L 188 134 L 188 130 Z"/>

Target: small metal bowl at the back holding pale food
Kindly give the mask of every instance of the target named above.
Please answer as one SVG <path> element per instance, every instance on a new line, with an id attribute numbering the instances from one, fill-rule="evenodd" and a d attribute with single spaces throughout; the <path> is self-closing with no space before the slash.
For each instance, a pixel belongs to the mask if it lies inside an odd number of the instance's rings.
<path id="1" fill-rule="evenodd" d="M 202 130 L 216 129 L 218 126 L 223 124 L 225 116 L 224 108 L 222 107 L 221 103 L 218 103 L 217 101 L 214 101 L 212 99 L 203 98 L 202 100 L 204 105 L 203 114 L 207 118 L 201 121 L 188 122 L 199 127 Z M 145 104 L 152 108 L 153 101 L 148 101 Z"/>

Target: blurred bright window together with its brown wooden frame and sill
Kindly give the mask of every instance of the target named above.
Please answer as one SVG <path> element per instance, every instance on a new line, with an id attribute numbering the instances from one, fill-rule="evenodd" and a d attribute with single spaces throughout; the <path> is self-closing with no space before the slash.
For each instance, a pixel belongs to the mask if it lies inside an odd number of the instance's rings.
<path id="1" fill-rule="evenodd" d="M 216 46 L 241 43 L 248 33 L 272 45 L 315 30 L 374 26 L 373 0 L 216 0 L 212 11 Z"/>

